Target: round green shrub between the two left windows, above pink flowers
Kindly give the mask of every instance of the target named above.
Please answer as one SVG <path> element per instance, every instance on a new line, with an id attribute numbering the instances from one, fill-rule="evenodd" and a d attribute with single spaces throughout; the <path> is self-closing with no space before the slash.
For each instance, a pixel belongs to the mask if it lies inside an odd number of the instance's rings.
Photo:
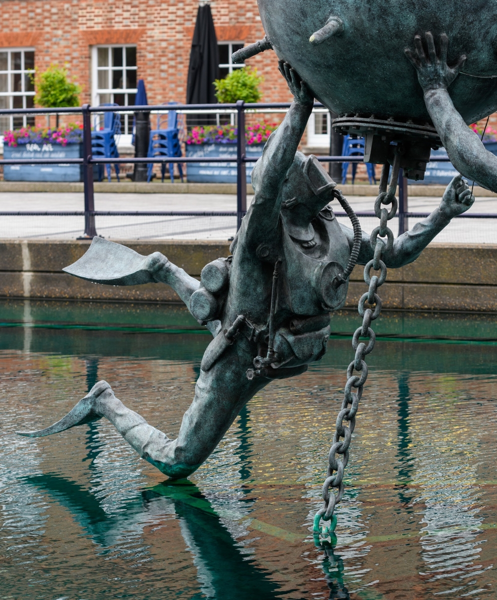
<path id="1" fill-rule="evenodd" d="M 38 106 L 59 108 L 62 106 L 79 106 L 79 85 L 67 77 L 67 69 L 50 65 L 46 71 L 35 77 L 36 95 L 34 101 Z"/>

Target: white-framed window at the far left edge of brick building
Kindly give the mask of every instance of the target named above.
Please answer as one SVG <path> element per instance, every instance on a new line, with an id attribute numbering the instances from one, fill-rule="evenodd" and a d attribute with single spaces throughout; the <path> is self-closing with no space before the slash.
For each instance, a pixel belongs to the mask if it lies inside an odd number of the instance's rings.
<path id="1" fill-rule="evenodd" d="M 34 106 L 34 49 L 0 49 L 0 108 L 31 109 Z M 0 134 L 7 129 L 34 125 L 31 115 L 0 115 Z"/>

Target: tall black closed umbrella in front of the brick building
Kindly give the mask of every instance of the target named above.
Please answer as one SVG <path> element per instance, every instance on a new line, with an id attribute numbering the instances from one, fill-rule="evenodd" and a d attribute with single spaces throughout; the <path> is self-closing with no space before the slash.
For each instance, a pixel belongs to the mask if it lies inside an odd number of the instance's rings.
<path id="1" fill-rule="evenodd" d="M 191 41 L 187 104 L 216 104 L 214 79 L 219 77 L 219 51 L 208 2 L 199 5 Z M 191 115 L 188 125 L 214 124 L 215 115 Z"/>

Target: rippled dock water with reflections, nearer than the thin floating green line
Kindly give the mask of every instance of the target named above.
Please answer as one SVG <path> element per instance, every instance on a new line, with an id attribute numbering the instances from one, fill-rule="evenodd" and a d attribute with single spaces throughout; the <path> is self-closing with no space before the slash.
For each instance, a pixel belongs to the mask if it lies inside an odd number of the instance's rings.
<path id="1" fill-rule="evenodd" d="M 495 598 L 495 343 L 378 341 L 331 552 L 311 527 L 348 339 L 268 385 L 175 485 L 107 421 L 13 430 L 106 379 L 174 436 L 208 336 L 4 327 L 0 340 L 0 598 Z"/>

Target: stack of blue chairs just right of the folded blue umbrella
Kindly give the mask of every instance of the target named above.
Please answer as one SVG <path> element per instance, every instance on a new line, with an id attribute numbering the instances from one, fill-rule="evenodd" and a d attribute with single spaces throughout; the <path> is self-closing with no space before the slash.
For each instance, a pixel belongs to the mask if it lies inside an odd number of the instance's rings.
<path id="1" fill-rule="evenodd" d="M 169 104 L 177 104 L 176 102 L 170 102 Z M 167 127 L 164 128 L 164 125 Z M 157 115 L 157 128 L 150 131 L 150 139 L 148 144 L 147 156 L 149 158 L 155 156 L 169 156 L 179 157 L 182 156 L 181 143 L 179 142 L 179 128 L 178 128 L 178 113 L 176 110 L 169 110 L 166 116 L 163 114 Z M 166 164 L 169 165 L 169 176 L 171 182 L 174 183 L 174 163 L 162 163 L 161 164 L 161 175 L 162 181 L 164 181 L 164 175 L 166 173 Z M 183 181 L 183 169 L 180 163 L 178 164 L 179 176 Z M 152 170 L 154 168 L 153 163 L 148 164 L 147 181 L 152 178 Z"/>

